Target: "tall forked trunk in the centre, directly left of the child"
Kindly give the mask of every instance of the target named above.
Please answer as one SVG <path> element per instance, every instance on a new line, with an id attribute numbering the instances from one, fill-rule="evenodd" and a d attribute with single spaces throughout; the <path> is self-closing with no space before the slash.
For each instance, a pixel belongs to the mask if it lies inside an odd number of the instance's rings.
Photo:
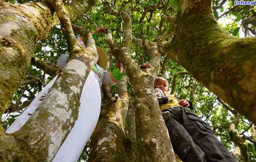
<path id="1" fill-rule="evenodd" d="M 140 152 L 137 160 L 140 162 L 175 162 L 167 128 L 154 91 L 155 75 L 160 70 L 160 55 L 158 55 L 156 44 L 148 43 L 149 52 L 151 52 L 150 63 L 155 67 L 146 69 L 146 71 L 141 70 L 130 56 L 132 30 L 129 11 L 121 12 L 121 17 L 125 22 L 125 43 L 123 48 L 117 49 L 121 51 L 116 56 L 123 63 L 133 86 L 137 148 Z"/>

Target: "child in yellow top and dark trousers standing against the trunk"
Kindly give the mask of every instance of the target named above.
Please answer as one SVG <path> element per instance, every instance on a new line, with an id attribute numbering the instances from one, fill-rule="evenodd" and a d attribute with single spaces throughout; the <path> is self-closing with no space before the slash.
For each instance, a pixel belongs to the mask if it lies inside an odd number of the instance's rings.
<path id="1" fill-rule="evenodd" d="M 147 63 L 141 68 L 149 68 Z M 174 152 L 183 162 L 237 162 L 208 125 L 193 112 L 193 105 L 167 92 L 166 78 L 156 77 L 157 96 Z"/>

